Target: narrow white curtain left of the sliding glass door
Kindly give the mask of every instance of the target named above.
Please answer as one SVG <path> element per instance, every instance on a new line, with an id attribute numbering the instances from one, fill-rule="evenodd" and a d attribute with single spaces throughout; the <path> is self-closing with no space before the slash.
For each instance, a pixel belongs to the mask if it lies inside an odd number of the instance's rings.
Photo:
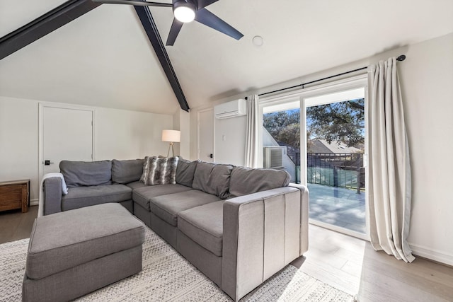
<path id="1" fill-rule="evenodd" d="M 244 165 L 258 168 L 258 95 L 251 95 L 247 100 L 246 154 Z"/>

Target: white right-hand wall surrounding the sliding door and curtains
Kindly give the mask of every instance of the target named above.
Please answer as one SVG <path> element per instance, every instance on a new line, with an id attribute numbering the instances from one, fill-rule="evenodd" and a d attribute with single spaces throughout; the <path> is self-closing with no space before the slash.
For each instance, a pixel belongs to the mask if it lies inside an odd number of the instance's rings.
<path id="1" fill-rule="evenodd" d="M 453 193 L 450 189 L 453 180 L 453 161 L 450 159 L 453 150 L 453 33 L 415 45 L 399 47 L 292 81 L 233 95 L 212 105 L 243 98 L 252 93 L 273 91 L 321 79 L 399 54 L 407 56 L 404 62 L 398 63 L 398 70 L 413 175 L 411 231 L 408 241 L 415 255 L 453 265 L 453 237 L 450 230 L 453 215 Z M 194 115 L 196 116 L 197 110 L 199 108 L 192 111 L 192 119 Z M 234 119 L 231 120 L 233 121 Z M 237 141 L 245 139 L 246 128 L 234 127 L 239 124 L 241 123 L 234 125 L 233 122 L 231 128 L 222 125 L 220 127 L 222 131 L 216 129 L 217 140 L 221 134 L 235 137 Z M 191 132 L 193 141 L 196 141 L 195 127 L 196 123 L 193 124 Z M 237 153 L 232 156 L 223 153 L 222 161 L 243 161 L 243 158 L 237 157 L 243 145 L 238 144 L 236 147 Z M 234 149 L 234 146 L 229 148 Z M 192 144 L 191 152 L 195 150 Z"/>

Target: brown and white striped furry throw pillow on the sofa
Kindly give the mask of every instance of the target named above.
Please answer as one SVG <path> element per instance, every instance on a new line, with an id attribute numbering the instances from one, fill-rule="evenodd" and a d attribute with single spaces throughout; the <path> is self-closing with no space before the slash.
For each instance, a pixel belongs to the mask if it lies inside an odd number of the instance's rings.
<path id="1" fill-rule="evenodd" d="M 148 158 L 148 173 L 145 175 L 145 185 L 175 185 L 178 157 Z"/>

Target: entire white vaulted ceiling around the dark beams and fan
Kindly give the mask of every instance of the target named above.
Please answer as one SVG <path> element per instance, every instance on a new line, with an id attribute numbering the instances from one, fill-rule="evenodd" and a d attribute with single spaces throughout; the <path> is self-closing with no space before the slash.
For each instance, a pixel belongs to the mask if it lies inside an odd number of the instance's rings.
<path id="1" fill-rule="evenodd" d="M 63 2 L 1 1 L 0 36 Z M 244 37 L 189 23 L 166 47 L 191 108 L 453 32 L 452 0 L 221 0 L 207 8 Z M 165 42 L 171 9 L 151 12 Z M 0 95 L 165 114 L 179 106 L 134 9 L 108 4 L 2 59 Z"/>

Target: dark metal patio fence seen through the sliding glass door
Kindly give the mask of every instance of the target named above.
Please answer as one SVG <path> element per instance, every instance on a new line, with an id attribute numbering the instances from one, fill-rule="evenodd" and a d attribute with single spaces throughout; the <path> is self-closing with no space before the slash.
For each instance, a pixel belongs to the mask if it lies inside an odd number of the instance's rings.
<path id="1" fill-rule="evenodd" d="M 307 181 L 365 190 L 363 153 L 307 153 Z"/>

